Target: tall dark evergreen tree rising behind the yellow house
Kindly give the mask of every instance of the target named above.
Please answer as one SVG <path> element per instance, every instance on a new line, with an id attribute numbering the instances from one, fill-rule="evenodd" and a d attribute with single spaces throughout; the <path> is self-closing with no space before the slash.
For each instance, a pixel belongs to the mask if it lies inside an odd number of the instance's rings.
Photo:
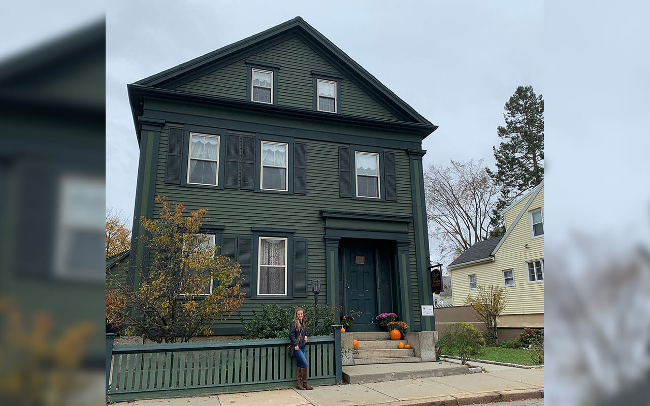
<path id="1" fill-rule="evenodd" d="M 505 105 L 506 125 L 497 128 L 504 140 L 493 147 L 497 171 L 487 173 L 500 188 L 499 201 L 493 210 L 491 236 L 505 233 L 501 212 L 513 200 L 544 178 L 544 100 L 532 86 L 518 86 Z"/>

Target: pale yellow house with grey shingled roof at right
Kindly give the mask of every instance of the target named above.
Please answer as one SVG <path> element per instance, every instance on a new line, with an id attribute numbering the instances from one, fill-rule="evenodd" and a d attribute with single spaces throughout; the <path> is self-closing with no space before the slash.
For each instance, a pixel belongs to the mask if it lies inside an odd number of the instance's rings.
<path id="1" fill-rule="evenodd" d="M 544 182 L 504 210 L 506 233 L 477 242 L 447 267 L 454 306 L 479 285 L 504 286 L 499 327 L 544 327 Z"/>

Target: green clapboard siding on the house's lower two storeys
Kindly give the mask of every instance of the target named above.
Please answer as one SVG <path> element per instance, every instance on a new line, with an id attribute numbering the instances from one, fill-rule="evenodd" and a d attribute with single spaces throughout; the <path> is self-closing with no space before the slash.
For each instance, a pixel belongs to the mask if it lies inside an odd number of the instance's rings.
<path id="1" fill-rule="evenodd" d="M 155 194 L 167 196 L 168 201 L 183 203 L 189 211 L 208 209 L 208 222 L 226 226 L 224 233 L 229 235 L 250 235 L 250 227 L 278 227 L 295 229 L 296 238 L 307 238 L 309 257 L 307 260 L 307 281 L 319 278 L 326 281 L 326 249 L 323 240 L 324 220 L 320 210 L 350 210 L 373 212 L 376 214 L 412 215 L 411 184 L 409 182 L 409 157 L 406 151 L 386 149 L 395 153 L 396 190 L 398 201 L 359 201 L 339 197 L 339 146 L 333 142 L 304 140 L 307 152 L 307 194 L 278 195 L 252 192 L 248 190 L 215 190 L 194 187 L 179 187 L 164 183 L 168 125 L 161 130 Z M 242 132 L 238 132 L 244 134 Z M 258 140 L 259 142 L 259 140 Z M 155 205 L 157 216 L 160 205 Z M 290 216 L 287 213 L 291 213 Z M 413 225 L 408 226 L 409 240 L 413 241 Z M 415 268 L 415 244 L 409 252 L 411 266 L 411 299 L 415 323 L 419 323 L 419 294 L 417 270 Z M 254 259 L 257 262 L 256 259 Z M 256 281 L 252 281 L 253 290 Z M 326 283 L 322 284 L 320 298 L 327 298 Z M 302 305 L 313 303 L 313 294 L 298 299 L 246 299 L 240 309 L 244 320 L 252 317 L 252 310 L 261 303 L 280 305 Z M 219 323 L 220 327 L 240 327 L 237 315 Z"/>

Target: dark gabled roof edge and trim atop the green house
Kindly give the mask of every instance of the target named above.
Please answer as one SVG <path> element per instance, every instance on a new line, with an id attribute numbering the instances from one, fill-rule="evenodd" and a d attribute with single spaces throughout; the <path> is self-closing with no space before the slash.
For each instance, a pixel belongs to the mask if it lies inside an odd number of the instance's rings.
<path id="1" fill-rule="evenodd" d="M 321 57 L 330 62 L 337 70 L 341 71 L 350 81 L 357 84 L 359 88 L 376 99 L 383 107 L 395 114 L 403 123 L 420 125 L 420 128 L 425 131 L 428 130 L 428 133 L 431 133 L 437 128 L 437 126 L 415 111 L 413 107 L 409 106 L 408 103 L 384 86 L 382 82 L 378 81 L 376 77 L 362 68 L 352 58 L 348 57 L 346 53 L 341 51 L 339 47 L 334 45 L 323 34 L 307 24 L 301 17 L 292 18 L 266 31 L 259 32 L 233 44 L 226 45 L 216 51 L 174 66 L 174 68 L 164 70 L 133 84 L 129 84 L 129 99 L 131 99 L 131 108 L 133 109 L 136 128 L 138 127 L 137 112 L 140 107 L 138 105 L 138 97 L 134 97 L 134 94 L 155 88 L 161 90 L 161 94 L 167 94 L 168 96 L 174 94 L 182 95 L 185 92 L 171 89 L 294 36 L 297 36 L 305 44 L 312 47 Z M 167 92 L 162 92 L 162 90 L 166 90 Z M 197 97 L 196 95 L 194 97 L 196 100 L 201 101 L 204 101 L 204 99 L 220 99 L 220 97 Z M 233 102 L 231 99 L 229 101 Z M 239 105 L 240 103 L 247 103 L 259 107 L 259 103 L 253 102 L 238 101 L 235 104 Z"/>

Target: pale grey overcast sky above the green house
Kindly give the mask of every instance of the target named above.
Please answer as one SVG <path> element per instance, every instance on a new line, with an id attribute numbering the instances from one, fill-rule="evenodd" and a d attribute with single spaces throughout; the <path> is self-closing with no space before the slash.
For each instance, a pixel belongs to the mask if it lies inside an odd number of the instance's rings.
<path id="1" fill-rule="evenodd" d="M 493 164 L 517 86 L 543 93 L 541 1 L 114 1 L 107 8 L 106 205 L 133 214 L 138 146 L 126 84 L 302 16 L 439 129 L 425 166 Z M 242 6 L 245 4 L 246 6 Z M 381 6 L 379 6 L 381 4 Z"/>

